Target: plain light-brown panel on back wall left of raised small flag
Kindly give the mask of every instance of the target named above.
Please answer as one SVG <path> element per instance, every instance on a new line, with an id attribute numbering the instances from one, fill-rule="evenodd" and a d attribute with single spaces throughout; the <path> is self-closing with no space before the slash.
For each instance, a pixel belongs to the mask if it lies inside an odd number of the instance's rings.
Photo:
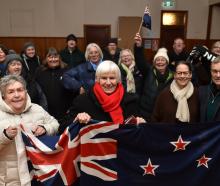
<path id="1" fill-rule="evenodd" d="M 118 46 L 133 50 L 134 36 L 138 32 L 141 17 L 119 17 L 118 21 Z"/>

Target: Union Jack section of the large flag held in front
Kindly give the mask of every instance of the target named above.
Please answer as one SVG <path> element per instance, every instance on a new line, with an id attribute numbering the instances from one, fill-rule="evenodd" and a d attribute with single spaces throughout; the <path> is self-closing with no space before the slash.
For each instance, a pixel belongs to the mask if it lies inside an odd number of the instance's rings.
<path id="1" fill-rule="evenodd" d="M 116 158 L 117 141 L 110 138 L 93 138 L 118 128 L 112 123 L 97 123 L 80 130 L 74 123 L 61 136 L 35 137 L 23 125 L 22 137 L 26 144 L 32 184 L 72 185 L 81 171 L 106 181 L 117 180 L 117 172 L 96 161 Z M 80 140 L 81 139 L 81 140 Z"/>

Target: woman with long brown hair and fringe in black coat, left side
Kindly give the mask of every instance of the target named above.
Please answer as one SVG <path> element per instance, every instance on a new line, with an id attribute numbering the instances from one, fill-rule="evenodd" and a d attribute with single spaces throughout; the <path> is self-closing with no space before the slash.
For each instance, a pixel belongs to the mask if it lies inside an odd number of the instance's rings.
<path id="1" fill-rule="evenodd" d="M 49 48 L 44 65 L 36 70 L 36 81 L 41 86 L 48 104 L 48 112 L 61 119 L 72 103 L 74 94 L 63 87 L 61 80 L 67 65 L 55 48 Z"/>

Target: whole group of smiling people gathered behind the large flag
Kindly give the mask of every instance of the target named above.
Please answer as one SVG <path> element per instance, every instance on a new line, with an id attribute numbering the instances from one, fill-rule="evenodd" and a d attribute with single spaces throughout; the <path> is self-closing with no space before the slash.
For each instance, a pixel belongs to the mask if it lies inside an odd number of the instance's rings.
<path id="1" fill-rule="evenodd" d="M 158 49 L 152 64 L 139 33 L 133 52 L 111 40 L 103 50 L 90 43 L 84 56 L 73 34 L 66 41 L 61 52 L 49 48 L 42 62 L 33 43 L 26 43 L 21 55 L 0 45 L 0 184 L 30 185 L 20 124 L 40 136 L 91 119 L 117 124 L 129 118 L 135 124 L 220 121 L 220 42 L 212 49 L 211 81 L 198 87 L 191 81 L 195 64 L 188 59 L 202 61 L 208 50 L 187 54 L 181 38 L 171 53 Z"/>

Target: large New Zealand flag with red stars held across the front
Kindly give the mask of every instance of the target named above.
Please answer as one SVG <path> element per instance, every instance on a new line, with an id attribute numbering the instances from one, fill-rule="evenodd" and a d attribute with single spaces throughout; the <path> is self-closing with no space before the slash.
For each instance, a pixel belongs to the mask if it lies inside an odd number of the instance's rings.
<path id="1" fill-rule="evenodd" d="M 218 123 L 104 122 L 83 127 L 72 124 L 60 137 L 38 139 L 25 133 L 24 138 L 33 179 L 48 185 L 62 182 L 81 186 L 219 186 L 220 183 Z M 36 147 L 36 141 L 41 140 L 38 145 L 46 146 L 49 138 L 56 138 L 56 142 L 47 145 L 51 150 L 45 154 Z M 34 157 L 30 155 L 32 151 L 39 154 Z M 51 184 L 51 180 L 57 182 Z"/>

